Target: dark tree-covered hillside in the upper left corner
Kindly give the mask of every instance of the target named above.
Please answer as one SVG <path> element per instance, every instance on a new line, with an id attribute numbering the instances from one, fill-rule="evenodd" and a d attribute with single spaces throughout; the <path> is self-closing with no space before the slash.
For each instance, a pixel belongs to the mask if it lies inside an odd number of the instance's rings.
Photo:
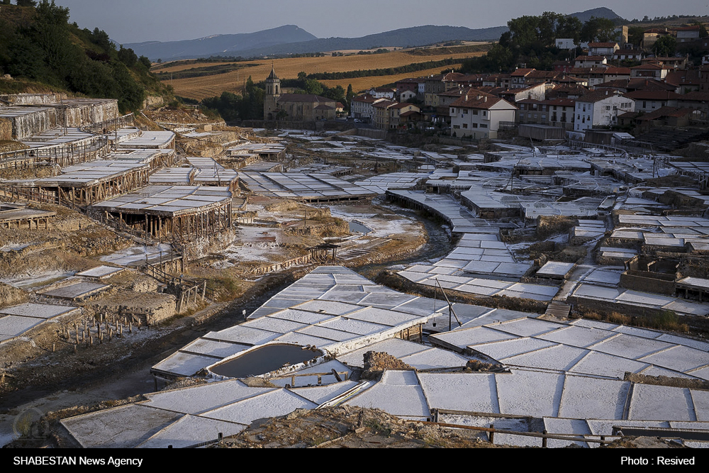
<path id="1" fill-rule="evenodd" d="M 150 60 L 115 45 L 95 28 L 69 23 L 69 9 L 43 0 L 36 7 L 0 5 L 0 93 L 66 91 L 118 99 L 121 112 L 147 96 L 172 94 L 150 73 Z"/>

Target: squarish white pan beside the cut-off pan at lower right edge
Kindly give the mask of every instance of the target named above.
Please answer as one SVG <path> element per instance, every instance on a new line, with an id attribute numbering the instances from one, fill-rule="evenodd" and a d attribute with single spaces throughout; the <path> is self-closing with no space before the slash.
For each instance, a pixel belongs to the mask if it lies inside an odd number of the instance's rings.
<path id="1" fill-rule="evenodd" d="M 635 384 L 628 416 L 640 421 L 696 421 L 691 390 Z"/>

